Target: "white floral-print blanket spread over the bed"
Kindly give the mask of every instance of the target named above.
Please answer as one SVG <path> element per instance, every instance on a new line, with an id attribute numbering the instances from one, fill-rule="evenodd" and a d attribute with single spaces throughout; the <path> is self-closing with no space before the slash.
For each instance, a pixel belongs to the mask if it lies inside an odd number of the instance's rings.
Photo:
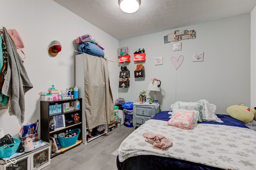
<path id="1" fill-rule="evenodd" d="M 150 119 L 138 127 L 121 143 L 119 161 L 137 155 L 156 155 L 226 170 L 256 169 L 256 131 L 214 124 L 194 124 L 185 130 L 166 123 Z M 173 144 L 166 150 L 153 149 L 142 136 L 145 132 L 163 135 Z"/>

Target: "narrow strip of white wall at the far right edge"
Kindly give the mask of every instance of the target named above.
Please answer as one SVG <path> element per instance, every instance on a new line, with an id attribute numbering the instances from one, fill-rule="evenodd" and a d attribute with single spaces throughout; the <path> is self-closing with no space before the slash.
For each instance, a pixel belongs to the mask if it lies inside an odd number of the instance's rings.
<path id="1" fill-rule="evenodd" d="M 251 77 L 250 77 L 250 82 L 251 82 L 251 103 L 250 107 L 256 107 L 256 8 L 251 11 L 251 63 L 250 63 L 250 68 L 251 68 Z"/>

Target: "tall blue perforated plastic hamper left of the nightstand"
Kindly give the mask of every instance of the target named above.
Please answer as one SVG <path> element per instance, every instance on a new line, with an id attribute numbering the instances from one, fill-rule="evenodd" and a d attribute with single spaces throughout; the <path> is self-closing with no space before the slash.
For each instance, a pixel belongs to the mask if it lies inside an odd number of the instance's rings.
<path id="1" fill-rule="evenodd" d="M 124 108 L 124 125 L 126 127 L 133 126 L 133 102 L 126 102 L 122 106 Z"/>

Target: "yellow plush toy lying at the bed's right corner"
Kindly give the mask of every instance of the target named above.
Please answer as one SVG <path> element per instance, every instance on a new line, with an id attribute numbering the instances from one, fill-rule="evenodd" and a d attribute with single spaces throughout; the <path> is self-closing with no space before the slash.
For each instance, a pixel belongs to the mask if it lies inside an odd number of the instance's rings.
<path id="1" fill-rule="evenodd" d="M 252 110 L 249 107 L 244 106 L 244 104 L 229 106 L 227 108 L 227 113 L 243 123 L 248 123 L 254 118 Z"/>

